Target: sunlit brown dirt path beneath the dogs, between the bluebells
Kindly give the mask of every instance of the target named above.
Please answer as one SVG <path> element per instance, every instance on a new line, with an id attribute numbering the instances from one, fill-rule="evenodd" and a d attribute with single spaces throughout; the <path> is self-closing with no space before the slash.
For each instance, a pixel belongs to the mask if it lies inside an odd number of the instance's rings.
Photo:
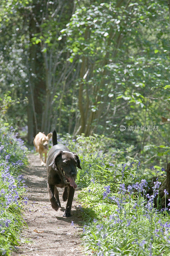
<path id="1" fill-rule="evenodd" d="M 55 212 L 49 202 L 46 168 L 41 167 L 39 156 L 29 155 L 29 162 L 23 173 L 29 198 L 25 218 L 28 229 L 24 230 L 23 238 L 31 242 L 22 244 L 12 256 L 83 256 L 78 204 L 74 199 L 72 216 L 63 218 L 66 203 L 62 200 L 63 189 L 58 189 L 62 208 Z M 76 196 L 75 192 L 74 198 Z M 71 226 L 71 221 L 74 222 L 74 227 Z"/>

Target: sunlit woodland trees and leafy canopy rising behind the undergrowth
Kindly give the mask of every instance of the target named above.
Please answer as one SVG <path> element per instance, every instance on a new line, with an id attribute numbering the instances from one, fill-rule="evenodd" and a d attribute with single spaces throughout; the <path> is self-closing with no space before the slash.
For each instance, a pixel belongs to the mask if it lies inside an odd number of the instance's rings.
<path id="1" fill-rule="evenodd" d="M 160 124 L 169 114 L 168 6 L 73 2 L 1 1 L 1 118 L 22 127 L 36 116 L 38 130 L 104 134 L 121 150 L 125 141 L 134 145 L 137 158 L 149 161 L 155 152 L 144 146 L 169 141 L 169 124 Z M 30 84 L 37 104 L 28 120 Z M 42 125 L 47 102 L 48 127 Z M 134 129 L 121 132 L 121 124 Z M 142 126 L 159 129 L 135 130 Z M 162 165 L 167 156 L 151 161 Z"/>

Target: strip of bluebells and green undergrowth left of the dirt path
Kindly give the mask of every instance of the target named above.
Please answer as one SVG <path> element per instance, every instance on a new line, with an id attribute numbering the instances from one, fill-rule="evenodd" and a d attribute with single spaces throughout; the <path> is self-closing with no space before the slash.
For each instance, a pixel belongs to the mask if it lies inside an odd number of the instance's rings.
<path id="1" fill-rule="evenodd" d="M 0 255 L 11 255 L 20 244 L 24 204 L 27 203 L 21 166 L 27 163 L 27 149 L 14 136 L 13 128 L 0 128 Z"/>

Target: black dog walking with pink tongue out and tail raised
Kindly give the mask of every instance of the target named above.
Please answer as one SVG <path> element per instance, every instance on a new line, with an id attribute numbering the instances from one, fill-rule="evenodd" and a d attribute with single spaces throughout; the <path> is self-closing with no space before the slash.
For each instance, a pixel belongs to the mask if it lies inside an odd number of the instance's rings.
<path id="1" fill-rule="evenodd" d="M 47 158 L 47 186 L 52 208 L 57 211 L 61 207 L 58 188 L 64 188 L 63 201 L 67 201 L 63 217 L 70 217 L 71 205 L 74 197 L 77 169 L 82 169 L 78 155 L 62 145 L 57 145 L 57 133 L 52 135 L 53 147 L 48 152 Z"/>

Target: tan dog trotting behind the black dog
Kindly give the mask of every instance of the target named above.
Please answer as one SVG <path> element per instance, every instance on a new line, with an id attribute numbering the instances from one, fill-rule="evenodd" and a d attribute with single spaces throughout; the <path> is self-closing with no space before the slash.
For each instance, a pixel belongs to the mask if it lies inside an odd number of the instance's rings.
<path id="1" fill-rule="evenodd" d="M 40 159 L 41 159 L 41 165 L 46 165 L 47 160 L 47 150 L 48 150 L 48 141 L 52 136 L 52 132 L 48 133 L 46 136 L 44 133 L 39 132 L 35 139 L 33 140 L 33 144 L 35 147 L 36 152 L 39 153 Z M 45 161 L 42 160 L 42 154 L 45 154 Z"/>

